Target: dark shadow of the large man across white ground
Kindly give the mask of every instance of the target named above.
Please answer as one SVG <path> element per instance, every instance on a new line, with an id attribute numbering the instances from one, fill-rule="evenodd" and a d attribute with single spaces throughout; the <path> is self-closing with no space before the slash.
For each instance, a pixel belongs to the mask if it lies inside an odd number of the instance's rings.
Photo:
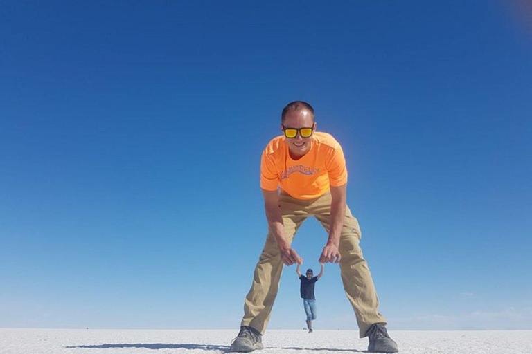
<path id="1" fill-rule="evenodd" d="M 231 346 L 216 346 L 210 344 L 163 344 L 163 343 L 136 343 L 136 344 L 98 344 L 92 346 L 65 346 L 65 348 L 88 348 L 88 349 L 109 349 L 109 348 L 148 348 L 148 349 L 189 349 L 204 351 L 221 351 L 222 353 L 232 353 Z M 337 349 L 337 348 L 298 348 L 274 346 L 265 347 L 265 349 L 292 349 L 297 351 L 347 351 L 353 353 L 369 353 L 367 351 L 357 351 L 355 349 Z"/>

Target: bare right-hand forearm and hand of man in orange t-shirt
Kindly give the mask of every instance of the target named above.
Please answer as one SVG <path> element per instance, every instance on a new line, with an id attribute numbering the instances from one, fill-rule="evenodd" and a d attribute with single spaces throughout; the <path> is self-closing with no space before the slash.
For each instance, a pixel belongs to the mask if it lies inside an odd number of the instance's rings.
<path id="1" fill-rule="evenodd" d="M 327 244 L 321 252 L 319 263 L 338 263 L 340 261 L 340 234 L 346 217 L 347 183 L 340 187 L 330 187 L 330 230 Z"/>

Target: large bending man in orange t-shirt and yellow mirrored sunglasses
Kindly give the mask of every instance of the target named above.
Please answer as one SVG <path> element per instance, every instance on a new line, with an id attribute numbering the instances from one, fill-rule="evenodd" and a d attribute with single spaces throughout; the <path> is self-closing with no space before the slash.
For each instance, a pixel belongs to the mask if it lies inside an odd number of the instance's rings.
<path id="1" fill-rule="evenodd" d="M 347 298 L 353 306 L 360 337 L 369 337 L 370 352 L 396 353 L 386 319 L 359 246 L 360 227 L 346 205 L 347 169 L 339 143 L 316 131 L 314 109 L 306 102 L 287 104 L 281 130 L 263 151 L 260 187 L 268 221 L 266 243 L 244 303 L 240 333 L 232 351 L 262 349 L 283 265 L 303 260 L 291 247 L 305 218 L 314 216 L 328 232 L 320 263 L 339 263 Z"/>

